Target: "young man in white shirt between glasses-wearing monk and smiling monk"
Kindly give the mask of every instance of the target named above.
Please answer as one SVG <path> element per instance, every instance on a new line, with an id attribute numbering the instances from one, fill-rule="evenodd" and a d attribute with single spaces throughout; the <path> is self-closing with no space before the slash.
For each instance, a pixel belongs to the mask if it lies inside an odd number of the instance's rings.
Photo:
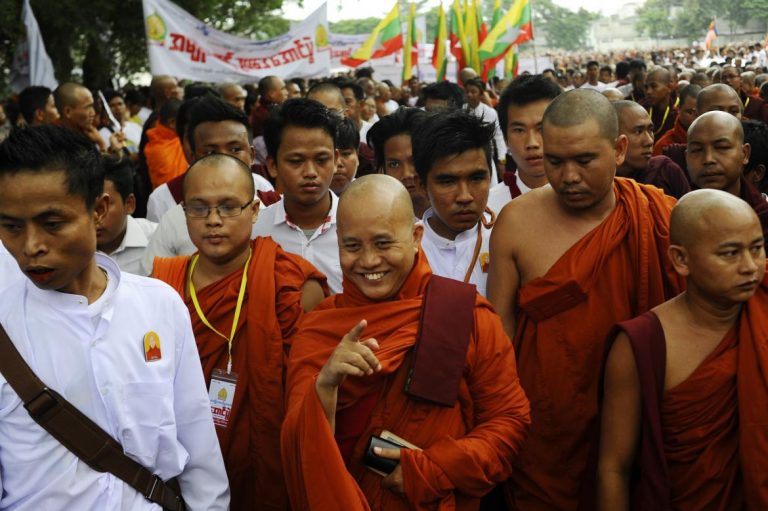
<path id="1" fill-rule="evenodd" d="M 338 199 L 330 191 L 339 151 L 340 119 L 311 99 L 290 99 L 270 112 L 264 124 L 267 168 L 283 200 L 259 213 L 253 237 L 271 236 L 286 252 L 300 255 L 341 291 L 336 238 Z"/>

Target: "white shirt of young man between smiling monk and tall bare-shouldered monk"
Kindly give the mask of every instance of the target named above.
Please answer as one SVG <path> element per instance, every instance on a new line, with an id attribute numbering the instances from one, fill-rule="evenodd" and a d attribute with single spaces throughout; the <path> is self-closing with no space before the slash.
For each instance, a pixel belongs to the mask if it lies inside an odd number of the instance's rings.
<path id="1" fill-rule="evenodd" d="M 424 226 L 424 236 L 421 238 L 421 248 L 429 261 L 432 273 L 441 277 L 464 281 L 464 276 L 472 263 L 477 244 L 477 229 L 475 226 L 456 235 L 456 239 L 449 240 L 437 234 L 428 219 L 434 215 L 432 208 L 424 212 L 424 218 L 418 225 Z M 486 214 L 486 219 L 490 217 Z M 490 261 L 490 241 L 492 229 L 482 227 L 480 239 L 480 252 L 469 277 L 469 283 L 477 286 L 477 292 L 486 295 L 486 281 L 488 279 L 488 262 Z"/>

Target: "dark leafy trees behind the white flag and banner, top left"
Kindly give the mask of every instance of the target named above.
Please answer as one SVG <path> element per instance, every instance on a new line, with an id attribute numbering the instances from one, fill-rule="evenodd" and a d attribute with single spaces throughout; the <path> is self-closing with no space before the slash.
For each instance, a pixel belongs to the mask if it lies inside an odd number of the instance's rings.
<path id="1" fill-rule="evenodd" d="M 210 26 L 254 39 L 288 30 L 283 0 L 174 0 Z M 5 71 L 24 37 L 21 0 L 2 0 L 0 65 Z M 46 50 L 60 82 L 82 73 L 88 87 L 109 87 L 115 76 L 146 71 L 147 43 L 141 0 L 31 0 Z"/>

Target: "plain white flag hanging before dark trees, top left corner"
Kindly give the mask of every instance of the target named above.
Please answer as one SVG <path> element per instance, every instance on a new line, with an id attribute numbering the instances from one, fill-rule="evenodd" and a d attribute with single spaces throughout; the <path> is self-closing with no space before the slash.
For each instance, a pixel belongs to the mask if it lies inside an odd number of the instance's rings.
<path id="1" fill-rule="evenodd" d="M 27 40 L 16 50 L 11 88 L 17 93 L 29 85 L 43 85 L 53 90 L 59 86 L 59 82 L 53 74 L 53 63 L 45 51 L 40 27 L 37 26 L 29 0 L 24 0 L 21 19 L 27 29 Z"/>

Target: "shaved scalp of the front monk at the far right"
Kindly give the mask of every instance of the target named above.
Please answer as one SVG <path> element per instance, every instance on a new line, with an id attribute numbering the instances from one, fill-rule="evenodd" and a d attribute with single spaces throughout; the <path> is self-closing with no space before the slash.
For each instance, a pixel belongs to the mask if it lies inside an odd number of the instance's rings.
<path id="1" fill-rule="evenodd" d="M 760 229 L 760 220 L 755 210 L 728 192 L 702 189 L 687 193 L 672 208 L 669 219 L 670 242 L 690 247 L 705 236 L 712 226 L 733 216 L 752 219 Z"/>

